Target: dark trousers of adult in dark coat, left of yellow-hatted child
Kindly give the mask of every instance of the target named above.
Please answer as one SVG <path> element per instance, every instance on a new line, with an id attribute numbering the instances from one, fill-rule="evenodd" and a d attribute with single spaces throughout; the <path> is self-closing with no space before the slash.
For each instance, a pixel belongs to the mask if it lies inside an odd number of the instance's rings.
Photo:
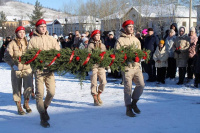
<path id="1" fill-rule="evenodd" d="M 146 64 L 147 66 L 147 73 L 149 75 L 149 79 L 150 80 L 156 80 L 156 67 L 155 67 L 155 61 L 154 60 L 150 60 L 148 64 Z"/>

